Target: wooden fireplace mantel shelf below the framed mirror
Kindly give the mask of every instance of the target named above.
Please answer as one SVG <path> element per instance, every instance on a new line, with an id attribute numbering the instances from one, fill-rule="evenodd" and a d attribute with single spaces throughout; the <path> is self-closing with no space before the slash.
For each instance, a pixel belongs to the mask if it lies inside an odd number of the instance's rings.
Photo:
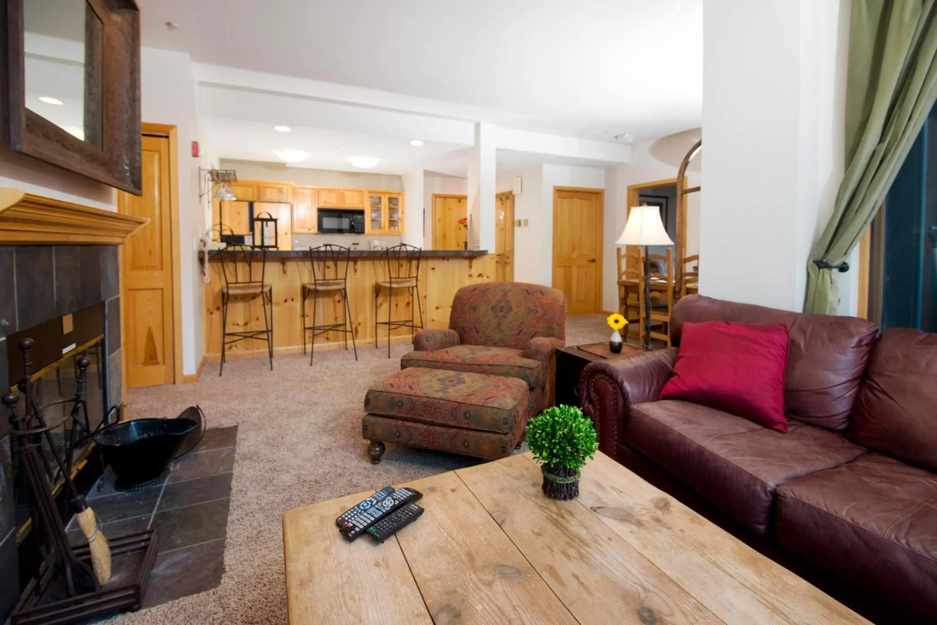
<path id="1" fill-rule="evenodd" d="M 149 221 L 0 186 L 0 246 L 119 246 Z"/>

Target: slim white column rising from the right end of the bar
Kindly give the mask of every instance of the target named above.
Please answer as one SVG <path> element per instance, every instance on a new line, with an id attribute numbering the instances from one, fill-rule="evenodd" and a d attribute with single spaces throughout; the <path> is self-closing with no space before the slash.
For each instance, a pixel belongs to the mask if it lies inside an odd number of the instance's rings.
<path id="1" fill-rule="evenodd" d="M 475 125 L 475 144 L 468 151 L 468 216 L 472 231 L 468 240 L 475 249 L 495 250 L 495 154 L 497 127 Z"/>

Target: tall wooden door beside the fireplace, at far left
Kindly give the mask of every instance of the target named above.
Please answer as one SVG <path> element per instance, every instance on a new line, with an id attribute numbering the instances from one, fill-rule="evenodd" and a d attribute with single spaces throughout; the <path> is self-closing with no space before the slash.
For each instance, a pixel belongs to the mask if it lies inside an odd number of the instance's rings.
<path id="1" fill-rule="evenodd" d="M 150 223 L 123 246 L 124 360 L 129 388 L 173 381 L 170 140 L 143 136 L 143 195 L 118 193 L 117 210 Z M 227 203 L 227 202 L 224 202 Z"/>

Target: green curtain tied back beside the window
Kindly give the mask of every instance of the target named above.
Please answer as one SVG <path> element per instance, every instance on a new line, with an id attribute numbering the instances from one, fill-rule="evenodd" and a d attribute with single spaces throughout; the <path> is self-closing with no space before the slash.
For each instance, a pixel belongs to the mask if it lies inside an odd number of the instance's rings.
<path id="1" fill-rule="evenodd" d="M 846 77 L 846 172 L 811 250 L 806 312 L 836 314 L 833 272 L 858 244 L 937 91 L 937 0 L 853 0 Z M 819 264 L 818 264 L 819 261 Z"/>

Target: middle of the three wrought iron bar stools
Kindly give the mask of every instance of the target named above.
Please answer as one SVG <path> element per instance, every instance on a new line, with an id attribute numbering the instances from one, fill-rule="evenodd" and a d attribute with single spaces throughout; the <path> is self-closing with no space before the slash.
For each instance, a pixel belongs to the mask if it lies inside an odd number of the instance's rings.
<path id="1" fill-rule="evenodd" d="M 310 331 L 312 337 L 309 346 L 309 365 L 316 356 L 316 336 L 330 332 L 340 332 L 345 335 L 345 350 L 349 349 L 349 335 L 351 335 L 351 348 L 354 350 L 354 359 L 358 360 L 358 347 L 354 342 L 354 327 L 351 325 L 351 307 L 349 305 L 349 263 L 351 250 L 348 247 L 326 244 L 324 246 L 309 248 L 309 262 L 312 265 L 312 282 L 303 284 L 303 297 L 300 305 L 303 308 L 303 353 L 305 353 L 305 333 Z M 316 325 L 316 308 L 320 294 L 330 297 L 339 295 L 342 298 L 342 320 L 335 323 Z M 312 325 L 305 324 L 305 301 L 312 296 Z M 323 314 L 324 314 L 323 308 Z"/>

